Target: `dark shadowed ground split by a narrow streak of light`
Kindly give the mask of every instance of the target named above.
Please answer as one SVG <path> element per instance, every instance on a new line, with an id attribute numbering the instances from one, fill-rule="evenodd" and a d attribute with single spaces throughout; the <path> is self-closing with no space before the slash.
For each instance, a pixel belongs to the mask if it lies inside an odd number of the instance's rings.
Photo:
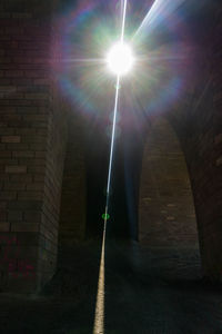
<path id="1" fill-rule="evenodd" d="M 0 333 L 93 333 L 100 246 L 63 249 L 39 296 L 0 297 Z M 222 333 L 222 288 L 201 281 L 196 249 L 108 243 L 104 334 Z"/>

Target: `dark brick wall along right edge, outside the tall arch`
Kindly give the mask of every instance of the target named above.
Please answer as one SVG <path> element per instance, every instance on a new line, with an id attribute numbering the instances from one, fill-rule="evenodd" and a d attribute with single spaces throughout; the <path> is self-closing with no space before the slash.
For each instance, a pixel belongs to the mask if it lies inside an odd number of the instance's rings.
<path id="1" fill-rule="evenodd" d="M 203 274 L 216 281 L 222 279 L 221 36 L 221 11 L 216 9 L 211 29 L 200 38 L 195 85 L 176 116 L 170 116 L 190 171 Z"/>

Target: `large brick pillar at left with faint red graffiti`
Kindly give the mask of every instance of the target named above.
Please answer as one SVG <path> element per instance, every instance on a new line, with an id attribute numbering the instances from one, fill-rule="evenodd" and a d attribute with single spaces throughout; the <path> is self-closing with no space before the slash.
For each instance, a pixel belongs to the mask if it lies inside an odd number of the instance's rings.
<path id="1" fill-rule="evenodd" d="M 61 138 L 65 136 L 51 80 L 51 4 L 20 0 L 0 4 L 3 291 L 36 291 L 56 265 L 64 149 Z"/>

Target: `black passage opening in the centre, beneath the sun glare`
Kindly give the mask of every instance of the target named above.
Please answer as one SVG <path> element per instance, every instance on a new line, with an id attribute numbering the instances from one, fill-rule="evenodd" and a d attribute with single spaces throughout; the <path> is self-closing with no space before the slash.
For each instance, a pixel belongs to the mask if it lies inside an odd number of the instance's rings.
<path id="1" fill-rule="evenodd" d="M 121 136 L 115 138 L 109 196 L 108 236 L 111 238 L 138 239 L 143 137 L 143 134 L 138 134 L 132 127 L 130 130 L 122 127 Z M 101 236 L 103 232 L 102 214 L 107 200 L 110 140 L 98 129 L 88 138 L 87 235 L 92 237 Z"/>

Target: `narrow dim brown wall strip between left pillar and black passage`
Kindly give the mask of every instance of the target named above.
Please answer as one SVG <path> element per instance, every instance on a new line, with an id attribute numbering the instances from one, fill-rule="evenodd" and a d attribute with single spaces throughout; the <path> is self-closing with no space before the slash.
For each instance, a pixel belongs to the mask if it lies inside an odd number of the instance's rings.
<path id="1" fill-rule="evenodd" d="M 84 126 L 80 115 L 70 111 L 64 159 L 59 244 L 72 245 L 85 233 Z"/>

